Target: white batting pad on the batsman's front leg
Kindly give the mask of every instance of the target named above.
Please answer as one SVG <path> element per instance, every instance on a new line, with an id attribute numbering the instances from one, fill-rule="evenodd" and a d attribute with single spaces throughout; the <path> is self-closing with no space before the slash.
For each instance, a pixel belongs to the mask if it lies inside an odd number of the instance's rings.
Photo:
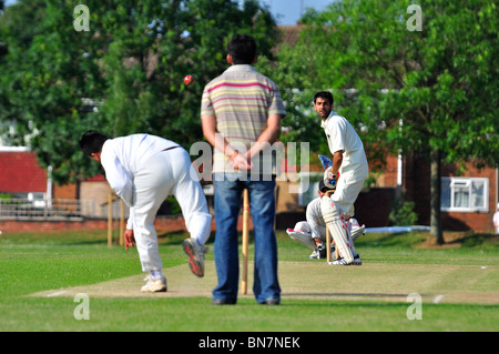
<path id="1" fill-rule="evenodd" d="M 339 210 L 334 205 L 329 198 L 323 196 L 320 200 L 320 212 L 323 213 L 324 221 L 329 229 L 333 240 L 335 240 L 340 256 L 344 257 L 346 263 L 350 264 L 354 262 L 354 254 L 349 244 L 350 237 L 347 231 L 348 226 L 340 216 Z"/>

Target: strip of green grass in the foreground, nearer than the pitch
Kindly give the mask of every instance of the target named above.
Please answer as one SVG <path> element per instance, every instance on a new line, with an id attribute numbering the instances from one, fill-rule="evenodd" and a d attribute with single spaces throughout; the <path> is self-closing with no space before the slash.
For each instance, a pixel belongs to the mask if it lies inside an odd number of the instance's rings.
<path id="1" fill-rule="evenodd" d="M 266 307 L 243 299 L 212 306 L 206 299 L 92 299 L 91 318 L 77 321 L 72 299 L 2 302 L 2 331 L 113 332 L 367 332 L 497 331 L 497 306 L 428 304 L 421 321 L 406 317 L 407 303 L 287 300 Z M 495 312 L 495 313 L 493 313 Z"/>

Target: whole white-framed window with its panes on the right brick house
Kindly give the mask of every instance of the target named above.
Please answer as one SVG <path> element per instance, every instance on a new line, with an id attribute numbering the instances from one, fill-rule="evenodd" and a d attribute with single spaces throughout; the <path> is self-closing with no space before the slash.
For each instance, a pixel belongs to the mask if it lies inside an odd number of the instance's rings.
<path id="1" fill-rule="evenodd" d="M 488 212 L 489 179 L 441 178 L 441 211 Z"/>

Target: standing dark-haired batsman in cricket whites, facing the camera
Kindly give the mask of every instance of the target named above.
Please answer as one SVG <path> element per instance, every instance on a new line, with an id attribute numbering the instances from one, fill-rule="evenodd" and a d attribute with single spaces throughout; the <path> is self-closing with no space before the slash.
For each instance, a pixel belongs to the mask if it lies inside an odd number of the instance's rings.
<path id="1" fill-rule="evenodd" d="M 320 212 L 339 251 L 338 259 L 330 264 L 349 265 L 358 255 L 348 220 L 355 214 L 354 203 L 369 169 L 360 138 L 354 127 L 344 117 L 336 114 L 333 108 L 330 92 L 320 91 L 314 95 L 314 109 L 322 119 L 320 127 L 333 154 L 333 166 L 324 172 L 324 183 L 328 188 L 336 188 L 333 195 L 320 199 Z"/>

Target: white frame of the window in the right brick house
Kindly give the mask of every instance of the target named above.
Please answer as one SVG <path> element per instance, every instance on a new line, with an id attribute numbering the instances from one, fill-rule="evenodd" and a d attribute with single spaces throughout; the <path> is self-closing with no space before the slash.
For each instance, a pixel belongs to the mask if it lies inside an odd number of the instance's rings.
<path id="1" fill-rule="evenodd" d="M 483 194 L 481 198 L 483 199 L 483 204 L 479 206 L 473 205 L 473 185 L 482 184 L 483 185 Z M 444 196 L 446 195 L 445 189 L 449 190 L 447 194 L 450 199 L 450 205 L 444 206 Z M 467 192 L 468 200 L 467 206 L 456 206 L 456 195 L 459 191 Z M 489 179 L 487 178 L 456 178 L 456 176 L 442 176 L 441 178 L 441 211 L 444 212 L 459 212 L 459 213 L 478 213 L 478 212 L 488 212 L 489 211 Z"/>

